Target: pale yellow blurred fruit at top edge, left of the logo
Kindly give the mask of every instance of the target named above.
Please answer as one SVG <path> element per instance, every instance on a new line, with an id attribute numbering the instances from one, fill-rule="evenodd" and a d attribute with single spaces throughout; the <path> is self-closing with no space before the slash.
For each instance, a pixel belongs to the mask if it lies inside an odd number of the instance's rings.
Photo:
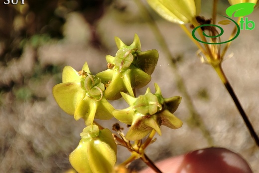
<path id="1" fill-rule="evenodd" d="M 174 23 L 189 23 L 199 15 L 201 0 L 147 0 L 163 18 Z"/>

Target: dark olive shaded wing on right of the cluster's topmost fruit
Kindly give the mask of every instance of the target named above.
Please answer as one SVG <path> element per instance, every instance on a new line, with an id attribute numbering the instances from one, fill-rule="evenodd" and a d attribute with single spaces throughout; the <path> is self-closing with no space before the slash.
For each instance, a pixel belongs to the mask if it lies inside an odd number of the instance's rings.
<path id="1" fill-rule="evenodd" d="M 144 52 L 137 52 L 136 64 L 145 73 L 151 75 L 155 70 L 158 61 L 158 51 L 157 50 L 147 50 Z"/>

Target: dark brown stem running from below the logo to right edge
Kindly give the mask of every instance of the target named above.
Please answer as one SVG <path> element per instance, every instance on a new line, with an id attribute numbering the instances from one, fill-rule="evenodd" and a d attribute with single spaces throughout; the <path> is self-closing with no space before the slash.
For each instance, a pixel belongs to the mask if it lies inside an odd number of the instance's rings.
<path id="1" fill-rule="evenodd" d="M 256 134 L 251 122 L 249 121 L 247 114 L 245 113 L 244 109 L 242 108 L 242 105 L 240 104 L 240 102 L 238 100 L 238 97 L 236 96 L 236 94 L 235 94 L 232 86 L 230 85 L 226 75 L 224 74 L 224 71 L 222 69 L 221 64 L 219 64 L 218 66 L 213 66 L 213 67 L 216 70 L 217 74 L 219 75 L 221 81 L 224 83 L 224 85 L 225 85 L 226 89 L 228 90 L 230 96 L 232 97 L 233 101 L 235 102 L 236 107 L 238 108 L 238 111 L 240 112 L 243 120 L 245 121 L 245 124 L 246 124 L 252 138 L 254 138 L 257 146 L 259 147 L 259 137 Z"/>

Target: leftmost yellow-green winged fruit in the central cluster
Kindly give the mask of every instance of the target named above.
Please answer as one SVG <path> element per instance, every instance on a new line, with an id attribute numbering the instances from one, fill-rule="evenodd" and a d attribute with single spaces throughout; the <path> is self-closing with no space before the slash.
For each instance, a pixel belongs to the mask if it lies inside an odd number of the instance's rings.
<path id="1" fill-rule="evenodd" d="M 59 107 L 76 120 L 83 118 L 91 125 L 94 118 L 107 120 L 113 117 L 113 106 L 103 96 L 105 86 L 99 77 L 90 73 L 87 63 L 77 72 L 65 66 L 62 82 L 53 87 L 53 96 Z"/>

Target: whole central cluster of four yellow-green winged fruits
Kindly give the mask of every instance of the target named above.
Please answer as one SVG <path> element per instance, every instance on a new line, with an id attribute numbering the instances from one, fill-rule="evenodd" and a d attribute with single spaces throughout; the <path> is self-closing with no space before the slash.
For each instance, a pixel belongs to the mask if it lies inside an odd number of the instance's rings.
<path id="1" fill-rule="evenodd" d="M 130 125 L 128 140 L 141 140 L 152 129 L 161 135 L 161 125 L 172 129 L 182 126 L 181 120 L 172 114 L 181 97 L 163 98 L 157 84 L 155 94 L 148 88 L 145 95 L 134 97 L 133 89 L 142 88 L 151 80 L 158 61 L 157 50 L 141 51 L 136 34 L 130 45 L 118 37 L 115 41 L 119 50 L 115 57 L 106 56 L 107 70 L 93 75 L 87 63 L 80 71 L 65 66 L 62 83 L 53 87 L 60 108 L 76 120 L 83 118 L 87 126 L 80 134 L 78 147 L 69 156 L 71 165 L 79 173 L 111 173 L 116 162 L 117 147 L 112 133 L 95 125 L 95 118 L 115 117 Z M 130 105 L 128 109 L 115 110 L 107 101 L 122 96 Z"/>

